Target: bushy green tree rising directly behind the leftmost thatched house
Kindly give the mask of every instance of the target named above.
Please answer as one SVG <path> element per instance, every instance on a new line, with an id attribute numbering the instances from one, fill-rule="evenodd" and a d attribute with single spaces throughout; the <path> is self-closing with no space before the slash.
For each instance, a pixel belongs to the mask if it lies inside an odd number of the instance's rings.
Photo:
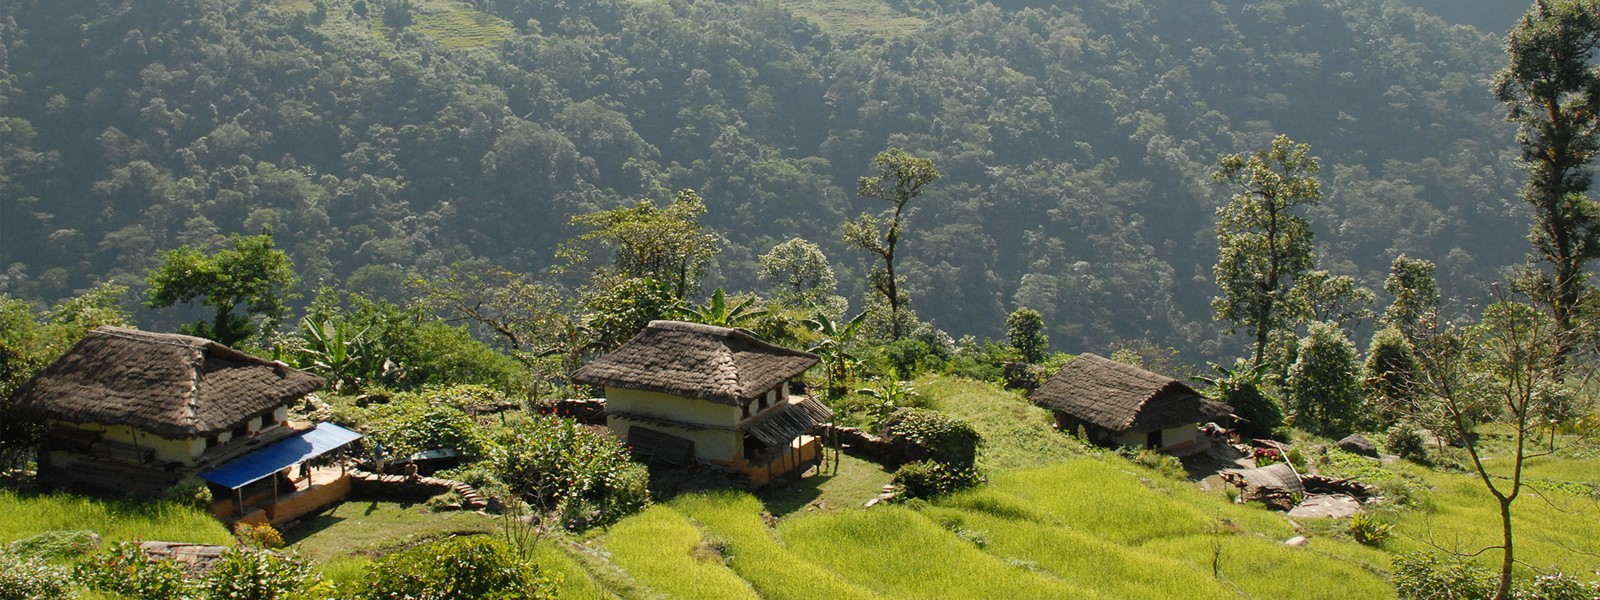
<path id="1" fill-rule="evenodd" d="M 163 251 L 162 266 L 146 275 L 146 304 L 163 309 L 200 299 L 214 309 L 214 317 L 210 323 L 184 325 L 179 331 L 222 346 L 238 346 L 256 336 L 251 315 L 264 318 L 261 328 L 277 330 L 288 314 L 288 290 L 298 283 L 290 256 L 272 245 L 270 232 L 234 235 L 229 243 L 232 248 L 211 254 L 194 246 Z M 243 312 L 235 312 L 240 307 Z"/>

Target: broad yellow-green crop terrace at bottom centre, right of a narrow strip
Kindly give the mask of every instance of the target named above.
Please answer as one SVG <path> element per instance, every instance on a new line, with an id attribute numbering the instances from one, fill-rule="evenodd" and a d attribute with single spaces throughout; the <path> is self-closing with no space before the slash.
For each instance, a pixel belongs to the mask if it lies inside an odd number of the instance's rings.
<path id="1" fill-rule="evenodd" d="M 986 554 L 899 506 L 802 515 L 778 526 L 798 555 L 902 598 L 1099 598 L 1094 590 Z"/>

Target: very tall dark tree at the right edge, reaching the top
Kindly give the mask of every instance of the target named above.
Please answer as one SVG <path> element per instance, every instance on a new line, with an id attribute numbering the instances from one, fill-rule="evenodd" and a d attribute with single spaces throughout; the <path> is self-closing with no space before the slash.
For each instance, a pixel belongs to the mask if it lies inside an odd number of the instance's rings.
<path id="1" fill-rule="evenodd" d="M 1597 48 L 1600 2 L 1538 0 L 1507 35 L 1506 67 L 1493 82 L 1528 170 L 1522 200 L 1533 206 L 1533 256 L 1523 283 L 1566 331 L 1579 328 L 1584 267 L 1600 256 L 1600 206 L 1587 195 L 1600 152 Z"/>

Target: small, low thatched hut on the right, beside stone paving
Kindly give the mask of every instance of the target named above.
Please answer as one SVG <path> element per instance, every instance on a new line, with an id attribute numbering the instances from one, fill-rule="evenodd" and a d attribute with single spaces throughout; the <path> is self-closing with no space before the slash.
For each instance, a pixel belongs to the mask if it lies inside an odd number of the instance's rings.
<path id="1" fill-rule="evenodd" d="M 1203 450 L 1198 426 L 1234 411 L 1178 379 L 1094 354 L 1080 354 L 1029 400 L 1054 411 L 1058 427 L 1082 429 L 1093 443 L 1174 454 Z"/>

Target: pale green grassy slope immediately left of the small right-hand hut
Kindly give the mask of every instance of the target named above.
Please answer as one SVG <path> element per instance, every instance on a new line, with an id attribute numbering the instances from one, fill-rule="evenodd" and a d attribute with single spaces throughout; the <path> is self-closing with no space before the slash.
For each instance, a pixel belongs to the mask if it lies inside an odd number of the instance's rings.
<path id="1" fill-rule="evenodd" d="M 984 437 L 978 450 L 979 469 L 1037 467 L 1088 453 L 1082 443 L 1051 427 L 1054 418 L 1048 410 L 1034 406 L 1018 392 L 941 374 L 918 379 L 917 389 L 933 402 L 933 408 L 971 422 Z"/>

